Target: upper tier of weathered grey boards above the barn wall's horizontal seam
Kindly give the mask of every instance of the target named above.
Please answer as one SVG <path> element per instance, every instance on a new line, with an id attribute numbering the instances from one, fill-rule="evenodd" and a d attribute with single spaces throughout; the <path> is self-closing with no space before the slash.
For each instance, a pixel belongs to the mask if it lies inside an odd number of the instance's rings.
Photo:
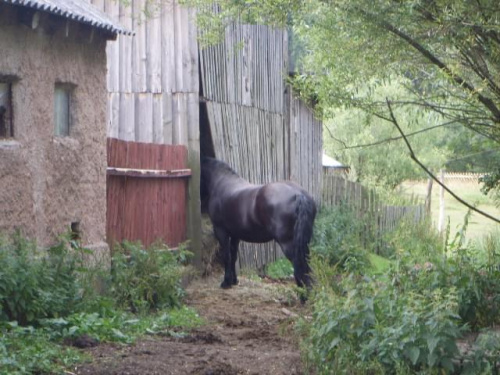
<path id="1" fill-rule="evenodd" d="M 287 40 L 280 29 L 229 26 L 224 42 L 201 51 L 203 96 L 283 114 Z"/>

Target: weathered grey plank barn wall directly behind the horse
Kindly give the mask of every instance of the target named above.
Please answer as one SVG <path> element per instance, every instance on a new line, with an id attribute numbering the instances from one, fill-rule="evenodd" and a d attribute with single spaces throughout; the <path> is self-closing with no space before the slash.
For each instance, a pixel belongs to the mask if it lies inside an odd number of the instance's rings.
<path id="1" fill-rule="evenodd" d="M 322 126 L 287 94 L 287 32 L 233 24 L 223 43 L 200 51 L 200 63 L 215 156 L 253 183 L 292 179 L 319 201 Z M 239 265 L 281 256 L 274 243 L 242 243 Z"/>

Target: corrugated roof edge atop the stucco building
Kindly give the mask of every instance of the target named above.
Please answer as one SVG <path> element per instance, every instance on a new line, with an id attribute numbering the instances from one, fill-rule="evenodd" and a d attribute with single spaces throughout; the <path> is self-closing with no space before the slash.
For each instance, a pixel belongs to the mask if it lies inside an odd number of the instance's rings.
<path id="1" fill-rule="evenodd" d="M 132 31 L 124 29 L 85 0 L 0 0 L 0 2 L 56 14 L 113 34 L 133 34 Z"/>

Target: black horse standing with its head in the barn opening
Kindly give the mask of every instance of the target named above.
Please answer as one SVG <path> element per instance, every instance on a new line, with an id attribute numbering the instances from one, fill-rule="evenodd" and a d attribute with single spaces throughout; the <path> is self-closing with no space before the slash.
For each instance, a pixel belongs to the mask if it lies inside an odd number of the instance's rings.
<path id="1" fill-rule="evenodd" d="M 222 288 L 238 283 L 235 265 L 240 241 L 273 239 L 292 262 L 297 285 L 311 285 L 308 244 L 316 205 L 304 189 L 289 181 L 254 185 L 226 163 L 202 157 L 200 192 L 222 250 Z"/>

